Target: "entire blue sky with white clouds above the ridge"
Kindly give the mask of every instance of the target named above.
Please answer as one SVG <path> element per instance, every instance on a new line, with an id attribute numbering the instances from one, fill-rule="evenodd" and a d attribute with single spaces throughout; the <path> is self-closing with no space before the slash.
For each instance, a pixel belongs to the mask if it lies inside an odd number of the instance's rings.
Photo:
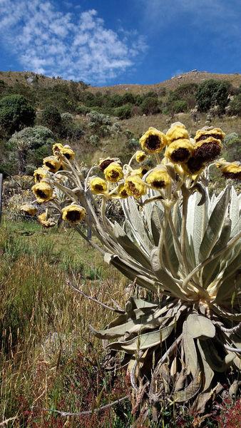
<path id="1" fill-rule="evenodd" d="M 240 0 L 0 0 L 0 70 L 92 85 L 241 72 Z"/>

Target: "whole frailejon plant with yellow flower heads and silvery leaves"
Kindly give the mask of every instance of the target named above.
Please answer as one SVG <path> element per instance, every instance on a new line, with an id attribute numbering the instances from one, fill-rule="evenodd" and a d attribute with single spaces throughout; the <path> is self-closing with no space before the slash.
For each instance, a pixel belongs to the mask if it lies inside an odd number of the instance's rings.
<path id="1" fill-rule="evenodd" d="M 101 159 L 88 173 L 69 146 L 57 143 L 34 173 L 36 202 L 48 205 L 40 223 L 67 221 L 133 289 L 147 291 L 148 299 L 131 295 L 103 330 L 92 328 L 111 355 L 123 352 L 145 409 L 189 402 L 204 412 L 223 384 L 237 392 L 241 197 L 231 180 L 240 180 L 241 165 L 215 161 L 224 137 L 220 128 L 203 128 L 193 139 L 182 123 L 166 134 L 149 128 L 128 164 Z M 213 165 L 229 182 L 211 197 Z M 110 199 L 121 204 L 123 222 L 106 215 Z"/>

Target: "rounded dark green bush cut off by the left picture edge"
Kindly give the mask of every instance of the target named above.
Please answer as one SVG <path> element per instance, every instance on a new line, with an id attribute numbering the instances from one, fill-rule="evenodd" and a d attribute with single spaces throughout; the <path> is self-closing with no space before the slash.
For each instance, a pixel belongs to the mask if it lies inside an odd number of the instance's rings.
<path id="1" fill-rule="evenodd" d="M 4 96 L 0 100 L 0 127 L 11 135 L 25 126 L 34 124 L 35 111 L 21 95 Z"/>

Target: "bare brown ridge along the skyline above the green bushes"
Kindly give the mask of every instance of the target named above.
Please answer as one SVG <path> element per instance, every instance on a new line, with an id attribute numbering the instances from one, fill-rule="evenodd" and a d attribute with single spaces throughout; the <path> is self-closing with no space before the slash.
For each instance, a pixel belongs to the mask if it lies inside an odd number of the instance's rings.
<path id="1" fill-rule="evenodd" d="M 88 91 L 93 93 L 102 91 L 104 93 L 125 93 L 131 91 L 133 93 L 147 93 L 149 91 L 157 91 L 166 88 L 174 91 L 178 86 L 184 83 L 201 83 L 206 79 L 214 78 L 216 80 L 227 80 L 232 86 L 238 87 L 241 85 L 241 74 L 221 74 L 209 73 L 208 71 L 189 71 L 188 73 L 180 74 L 179 76 L 172 77 L 166 81 L 155 83 L 152 85 L 133 85 L 121 83 L 114 86 L 88 86 Z M 39 86 L 43 88 L 51 88 L 56 84 L 71 84 L 71 81 L 63 80 L 62 78 L 51 78 L 41 74 L 33 73 L 32 71 L 0 71 L 0 80 L 4 81 L 9 86 L 15 83 L 21 83 L 27 86 Z M 83 87 L 83 82 L 78 82 L 80 88 Z"/>

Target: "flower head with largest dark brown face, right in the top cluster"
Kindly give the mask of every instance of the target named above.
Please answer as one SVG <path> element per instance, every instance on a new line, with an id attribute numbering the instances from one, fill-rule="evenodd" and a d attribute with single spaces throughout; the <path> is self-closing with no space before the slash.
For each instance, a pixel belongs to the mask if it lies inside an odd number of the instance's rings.
<path id="1" fill-rule="evenodd" d="M 211 162 L 220 156 L 222 150 L 222 143 L 220 140 L 210 136 L 205 140 L 200 140 L 194 146 L 195 150 L 193 156 L 199 158 L 202 162 Z"/>

